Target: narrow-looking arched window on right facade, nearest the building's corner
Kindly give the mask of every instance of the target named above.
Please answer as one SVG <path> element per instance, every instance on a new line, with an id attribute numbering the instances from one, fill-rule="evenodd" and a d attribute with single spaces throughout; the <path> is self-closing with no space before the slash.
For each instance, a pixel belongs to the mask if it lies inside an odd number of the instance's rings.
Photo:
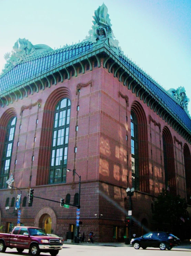
<path id="1" fill-rule="evenodd" d="M 138 129 L 137 117 L 131 111 L 131 171 L 132 187 L 139 189 L 139 157 L 138 157 Z"/>

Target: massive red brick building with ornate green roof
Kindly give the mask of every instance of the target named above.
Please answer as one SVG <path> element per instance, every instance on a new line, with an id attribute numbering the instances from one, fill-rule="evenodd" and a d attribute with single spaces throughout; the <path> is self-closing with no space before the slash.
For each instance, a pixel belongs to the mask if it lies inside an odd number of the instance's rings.
<path id="1" fill-rule="evenodd" d="M 104 4 L 93 18 L 81 43 L 52 50 L 19 39 L 7 55 L 0 76 L 0 223 L 6 232 L 17 225 L 15 198 L 22 191 L 21 224 L 53 228 L 64 239 L 67 231 L 76 235 L 75 207 L 40 198 L 28 203 L 33 188 L 34 196 L 78 204 L 79 177 L 67 168 L 81 176 L 80 231 L 93 231 L 98 241 L 126 236 L 127 187 L 135 188 L 137 235 L 156 228 L 153 203 L 167 186 L 186 198 L 191 214 L 185 90 L 164 90 L 123 54 Z M 11 173 L 17 190 L 6 183 Z"/>

